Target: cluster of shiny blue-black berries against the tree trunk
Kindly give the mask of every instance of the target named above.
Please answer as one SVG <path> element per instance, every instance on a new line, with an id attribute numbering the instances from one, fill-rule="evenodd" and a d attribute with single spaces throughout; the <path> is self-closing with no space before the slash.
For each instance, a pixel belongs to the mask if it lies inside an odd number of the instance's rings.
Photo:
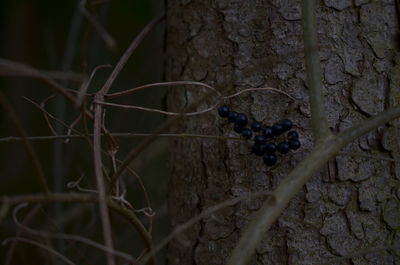
<path id="1" fill-rule="evenodd" d="M 290 120 L 284 119 L 272 126 L 255 121 L 250 125 L 250 128 L 247 128 L 248 119 L 244 113 L 231 111 L 228 106 L 224 105 L 218 108 L 218 114 L 223 118 L 228 118 L 228 121 L 234 124 L 233 130 L 240 133 L 243 138 L 251 139 L 253 132 L 256 134 L 253 138 L 252 152 L 257 156 L 262 156 L 267 166 L 276 164 L 277 152 L 287 154 L 290 150 L 300 148 L 299 134 L 291 130 L 293 123 Z M 272 140 L 277 137 L 281 141 L 274 143 Z"/>

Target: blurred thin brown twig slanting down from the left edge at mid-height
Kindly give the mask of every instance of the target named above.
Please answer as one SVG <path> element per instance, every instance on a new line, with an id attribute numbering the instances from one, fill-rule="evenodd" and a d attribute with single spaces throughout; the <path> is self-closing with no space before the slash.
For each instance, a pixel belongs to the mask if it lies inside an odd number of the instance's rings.
<path id="1" fill-rule="evenodd" d="M 28 151 L 28 155 L 32 160 L 33 166 L 36 170 L 36 174 L 39 180 L 40 185 L 45 194 L 49 193 L 49 185 L 47 184 L 46 176 L 44 175 L 44 171 L 42 165 L 40 163 L 39 157 L 37 156 L 35 149 L 33 148 L 32 144 L 27 139 L 25 129 L 22 126 L 21 120 L 19 119 L 17 113 L 15 113 L 13 107 L 8 103 L 7 99 L 5 98 L 4 94 L 0 91 L 0 105 L 8 112 L 10 115 L 11 121 L 14 124 L 15 128 L 17 129 L 18 133 L 21 135 L 25 147 Z"/>

